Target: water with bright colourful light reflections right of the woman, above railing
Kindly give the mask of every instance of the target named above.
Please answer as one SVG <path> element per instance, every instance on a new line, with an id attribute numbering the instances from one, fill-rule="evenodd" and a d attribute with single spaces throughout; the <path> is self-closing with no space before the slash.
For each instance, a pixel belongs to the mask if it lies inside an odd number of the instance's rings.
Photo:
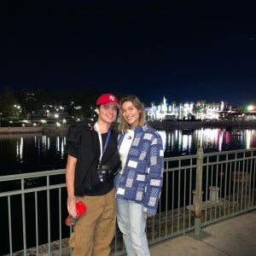
<path id="1" fill-rule="evenodd" d="M 199 147 L 204 152 L 221 152 L 256 147 L 255 130 L 195 129 L 159 131 L 164 143 L 165 156 L 196 154 Z"/>

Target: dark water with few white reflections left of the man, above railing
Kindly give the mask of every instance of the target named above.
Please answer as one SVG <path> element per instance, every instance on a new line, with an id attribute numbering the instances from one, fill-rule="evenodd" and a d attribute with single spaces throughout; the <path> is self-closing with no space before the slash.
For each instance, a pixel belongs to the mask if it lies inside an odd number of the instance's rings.
<path id="1" fill-rule="evenodd" d="M 65 168 L 65 146 L 65 135 L 0 135 L 0 175 Z"/>

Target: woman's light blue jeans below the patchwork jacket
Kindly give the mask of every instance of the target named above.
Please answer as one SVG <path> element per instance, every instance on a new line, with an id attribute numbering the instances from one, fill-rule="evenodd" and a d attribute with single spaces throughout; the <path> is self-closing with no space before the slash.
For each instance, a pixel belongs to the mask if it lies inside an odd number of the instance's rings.
<path id="1" fill-rule="evenodd" d="M 123 233 L 128 256 L 150 255 L 145 230 L 147 218 L 144 214 L 142 205 L 117 199 L 117 222 Z"/>

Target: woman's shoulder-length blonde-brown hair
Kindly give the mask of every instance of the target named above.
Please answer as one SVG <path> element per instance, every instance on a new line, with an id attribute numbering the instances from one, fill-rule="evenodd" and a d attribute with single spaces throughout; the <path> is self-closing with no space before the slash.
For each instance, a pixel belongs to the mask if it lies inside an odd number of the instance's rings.
<path id="1" fill-rule="evenodd" d="M 130 125 L 125 121 L 122 112 L 122 105 L 124 102 L 132 102 L 135 108 L 137 108 L 140 113 L 138 126 L 143 126 L 146 123 L 146 114 L 143 107 L 143 103 L 139 100 L 137 96 L 124 96 L 119 100 L 120 110 L 119 110 L 119 131 L 127 131 L 130 129 Z"/>

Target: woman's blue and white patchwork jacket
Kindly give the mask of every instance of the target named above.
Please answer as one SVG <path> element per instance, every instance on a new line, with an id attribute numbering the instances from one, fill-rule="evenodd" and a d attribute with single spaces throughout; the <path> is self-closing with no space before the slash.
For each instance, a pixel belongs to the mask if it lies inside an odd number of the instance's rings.
<path id="1" fill-rule="evenodd" d="M 120 133 L 120 147 L 125 133 Z M 137 126 L 122 174 L 117 179 L 117 199 L 143 205 L 150 215 L 157 212 L 163 184 L 164 150 L 160 134 L 150 125 Z"/>

